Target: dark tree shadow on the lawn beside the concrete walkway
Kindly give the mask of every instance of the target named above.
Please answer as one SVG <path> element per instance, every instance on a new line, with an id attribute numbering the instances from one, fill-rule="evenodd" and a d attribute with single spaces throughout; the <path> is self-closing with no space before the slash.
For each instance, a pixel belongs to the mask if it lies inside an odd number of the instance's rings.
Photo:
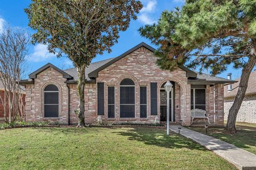
<path id="1" fill-rule="evenodd" d="M 112 133 L 126 136 L 128 140 L 136 140 L 143 142 L 146 145 L 155 145 L 170 149 L 187 148 L 190 150 L 197 149 L 206 151 L 205 148 L 198 145 L 194 141 L 172 132 L 170 132 L 170 135 L 166 135 L 166 131 L 164 130 L 155 130 L 153 128 L 133 128 L 127 131 Z"/>

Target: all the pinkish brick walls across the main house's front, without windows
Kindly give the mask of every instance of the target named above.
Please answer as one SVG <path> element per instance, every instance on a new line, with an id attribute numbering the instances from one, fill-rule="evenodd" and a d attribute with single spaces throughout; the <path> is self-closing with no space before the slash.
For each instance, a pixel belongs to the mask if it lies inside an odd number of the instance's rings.
<path id="1" fill-rule="evenodd" d="M 140 122 L 153 123 L 156 116 L 150 114 L 150 82 L 157 82 L 157 117 L 160 120 L 160 97 L 159 91 L 166 81 L 175 82 L 175 121 L 183 121 L 183 125 L 190 125 L 190 84 L 186 72 L 177 69 L 166 71 L 156 65 L 157 58 L 148 49 L 141 47 L 133 53 L 125 56 L 116 63 L 99 72 L 96 84 L 85 86 L 85 122 L 97 122 L 97 82 L 105 83 L 105 114 L 102 116 L 105 123 Z M 135 118 L 120 118 L 119 116 L 119 84 L 125 79 L 132 79 L 135 83 Z M 33 85 L 26 85 L 26 113 L 28 121 L 58 121 L 61 124 L 68 123 L 68 88 L 66 79 L 58 71 L 49 68 L 39 73 Z M 59 88 L 59 118 L 45 119 L 43 114 L 43 89 L 48 84 L 54 84 Z M 140 118 L 140 86 L 147 86 L 147 118 Z M 107 87 L 115 86 L 115 118 L 107 118 Z M 74 113 L 78 108 L 79 98 L 76 94 L 76 85 L 70 88 L 70 123 L 77 123 Z M 217 85 L 218 98 L 214 103 L 217 105 L 216 113 L 213 109 L 213 88 L 207 86 L 207 110 L 210 111 L 211 122 L 217 116 L 217 123 L 223 123 L 223 86 Z M 208 108 L 209 107 L 209 108 Z M 214 115 L 214 116 L 213 116 Z M 215 120 L 216 121 L 216 120 Z"/>

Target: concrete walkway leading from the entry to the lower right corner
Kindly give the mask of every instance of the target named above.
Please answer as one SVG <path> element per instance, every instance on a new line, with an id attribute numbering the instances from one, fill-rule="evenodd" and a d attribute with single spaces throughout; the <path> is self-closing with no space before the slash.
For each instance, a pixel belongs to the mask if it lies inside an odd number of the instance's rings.
<path id="1" fill-rule="evenodd" d="M 171 125 L 170 130 L 178 133 L 179 127 L 179 125 Z M 181 127 L 180 134 L 228 160 L 228 162 L 234 164 L 238 169 L 256 169 L 256 155 L 251 152 L 187 128 Z"/>

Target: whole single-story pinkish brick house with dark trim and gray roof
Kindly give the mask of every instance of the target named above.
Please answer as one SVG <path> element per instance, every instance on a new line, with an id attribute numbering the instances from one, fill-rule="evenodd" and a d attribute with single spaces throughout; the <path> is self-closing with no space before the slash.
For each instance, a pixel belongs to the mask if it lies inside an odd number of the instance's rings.
<path id="1" fill-rule="evenodd" d="M 180 66 L 175 71 L 156 65 L 154 48 L 141 43 L 124 54 L 92 63 L 85 70 L 85 122 L 153 123 L 166 121 L 166 92 L 163 85 L 171 81 L 171 117 L 190 125 L 190 109 L 202 108 L 210 122 L 222 125 L 223 87 L 234 81 L 197 74 Z M 27 121 L 77 123 L 77 69 L 60 70 L 46 64 L 20 81 L 26 86 Z M 214 91 L 215 90 L 215 91 Z"/>

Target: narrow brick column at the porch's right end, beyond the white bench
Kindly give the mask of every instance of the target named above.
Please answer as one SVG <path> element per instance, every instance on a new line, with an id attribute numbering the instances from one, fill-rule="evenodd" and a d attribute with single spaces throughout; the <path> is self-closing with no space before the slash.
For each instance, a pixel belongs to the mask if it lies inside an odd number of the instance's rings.
<path id="1" fill-rule="evenodd" d="M 224 123 L 224 85 L 215 85 L 215 124 Z"/>

